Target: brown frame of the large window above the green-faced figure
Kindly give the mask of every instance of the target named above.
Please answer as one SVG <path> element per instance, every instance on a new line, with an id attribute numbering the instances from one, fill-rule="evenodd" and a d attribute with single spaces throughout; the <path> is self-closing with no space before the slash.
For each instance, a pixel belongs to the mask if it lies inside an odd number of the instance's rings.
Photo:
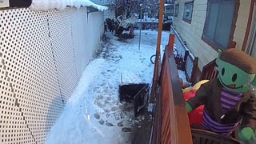
<path id="1" fill-rule="evenodd" d="M 213 48 L 214 50 L 218 51 L 218 49 L 221 49 L 221 50 L 228 50 L 230 48 L 233 48 L 236 46 L 236 42 L 233 41 L 234 39 L 234 30 L 235 30 L 235 25 L 236 25 L 236 22 L 237 22 L 237 19 L 238 19 L 238 10 L 239 10 L 239 6 L 240 6 L 240 3 L 239 1 L 240 0 L 235 0 L 234 2 L 234 14 L 233 14 L 233 19 L 232 19 L 232 25 L 231 25 L 231 29 L 230 29 L 230 37 L 229 37 L 229 40 L 228 40 L 228 46 L 225 48 L 225 47 L 221 47 L 221 46 L 218 46 L 218 44 L 214 43 L 214 42 L 211 42 L 208 38 L 206 38 L 205 36 L 205 33 L 206 33 L 206 24 L 207 22 L 209 21 L 209 14 L 208 14 L 208 10 L 210 9 L 210 2 L 219 2 L 221 0 L 207 0 L 207 9 L 206 9 L 206 20 L 205 20 L 205 25 L 204 25 L 204 28 L 203 28 L 203 32 L 202 32 L 202 41 L 203 42 L 206 42 L 206 44 L 208 44 L 211 48 Z"/>

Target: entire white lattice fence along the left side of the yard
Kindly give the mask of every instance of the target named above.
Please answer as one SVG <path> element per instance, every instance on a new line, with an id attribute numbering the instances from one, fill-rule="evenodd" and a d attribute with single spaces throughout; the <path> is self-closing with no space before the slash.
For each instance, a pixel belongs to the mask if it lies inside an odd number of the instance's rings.
<path id="1" fill-rule="evenodd" d="M 103 28 L 88 34 L 86 16 L 86 8 L 0 10 L 1 144 L 46 140 L 98 48 Z M 95 44 L 86 45 L 88 37 Z"/>

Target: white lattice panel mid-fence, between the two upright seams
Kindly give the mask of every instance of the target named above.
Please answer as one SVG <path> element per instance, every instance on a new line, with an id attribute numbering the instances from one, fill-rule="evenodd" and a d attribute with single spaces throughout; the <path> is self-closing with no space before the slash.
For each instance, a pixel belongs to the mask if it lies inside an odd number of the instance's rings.
<path id="1" fill-rule="evenodd" d="M 54 51 L 58 80 L 64 103 L 78 84 L 78 74 L 72 46 L 70 8 L 49 11 L 50 41 Z"/>

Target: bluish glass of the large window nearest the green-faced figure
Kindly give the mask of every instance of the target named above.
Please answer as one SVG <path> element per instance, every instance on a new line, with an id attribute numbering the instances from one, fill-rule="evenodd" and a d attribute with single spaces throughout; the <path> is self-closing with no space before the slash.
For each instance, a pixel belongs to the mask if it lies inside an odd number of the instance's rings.
<path id="1" fill-rule="evenodd" d="M 208 0 L 202 40 L 215 50 L 226 50 L 230 46 L 234 7 L 234 0 Z"/>

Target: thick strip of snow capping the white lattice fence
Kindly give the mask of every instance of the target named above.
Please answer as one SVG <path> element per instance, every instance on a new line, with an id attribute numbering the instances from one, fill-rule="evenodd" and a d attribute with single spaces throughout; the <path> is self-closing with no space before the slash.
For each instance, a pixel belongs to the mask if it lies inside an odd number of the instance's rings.
<path id="1" fill-rule="evenodd" d="M 80 6 L 90 6 L 101 11 L 108 9 L 108 7 L 97 5 L 94 2 L 90 2 L 90 0 L 32 0 L 30 9 L 36 11 L 51 9 L 64 10 L 66 6 L 74 6 L 77 9 Z"/>

